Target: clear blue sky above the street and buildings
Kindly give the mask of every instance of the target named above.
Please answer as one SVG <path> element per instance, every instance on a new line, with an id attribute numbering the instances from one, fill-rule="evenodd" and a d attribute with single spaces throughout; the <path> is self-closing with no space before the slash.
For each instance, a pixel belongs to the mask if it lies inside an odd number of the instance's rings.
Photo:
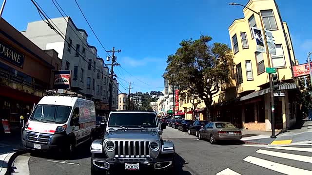
<path id="1" fill-rule="evenodd" d="M 57 0 L 78 28 L 88 33 L 88 42 L 106 53 L 80 14 L 75 0 Z M 125 88 L 132 82 L 134 91 L 162 90 L 162 74 L 167 55 L 175 53 L 182 39 L 210 35 L 214 42 L 230 45 L 228 27 L 235 18 L 242 18 L 240 6 L 248 0 L 77 0 L 106 50 L 121 49 L 116 68 Z M 60 17 L 51 0 L 37 0 L 50 18 Z M 92 3 L 91 3 L 92 2 Z M 311 0 L 276 0 L 282 20 L 288 23 L 295 57 L 299 63 L 312 51 Z M 2 0 L 1 0 L 2 3 Z M 30 0 L 7 0 L 2 17 L 19 31 L 27 23 L 40 20 Z M 310 22 L 310 24 L 309 24 Z M 127 82 L 125 82 L 125 81 Z M 144 82 L 144 83 L 143 83 Z M 122 92 L 128 91 L 121 86 Z"/>

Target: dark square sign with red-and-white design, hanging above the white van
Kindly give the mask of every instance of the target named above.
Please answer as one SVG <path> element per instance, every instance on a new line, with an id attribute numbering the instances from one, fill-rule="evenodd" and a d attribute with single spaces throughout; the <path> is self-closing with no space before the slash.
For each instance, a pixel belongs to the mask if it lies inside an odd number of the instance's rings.
<path id="1" fill-rule="evenodd" d="M 54 71 L 54 88 L 67 89 L 70 88 L 71 70 Z"/>

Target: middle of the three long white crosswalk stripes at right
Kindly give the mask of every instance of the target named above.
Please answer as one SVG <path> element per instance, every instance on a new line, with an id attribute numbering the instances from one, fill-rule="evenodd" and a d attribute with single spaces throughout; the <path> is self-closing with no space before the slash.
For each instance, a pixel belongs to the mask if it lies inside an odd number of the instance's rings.
<path id="1" fill-rule="evenodd" d="M 262 150 L 262 149 L 257 150 L 256 153 L 274 156 L 274 157 L 287 158 L 287 159 L 297 160 L 297 161 L 302 161 L 302 162 L 307 162 L 307 163 L 312 163 L 312 157 L 310 157 L 310 156 L 301 156 L 301 155 L 281 153 L 281 152 L 268 151 L 268 150 Z"/>

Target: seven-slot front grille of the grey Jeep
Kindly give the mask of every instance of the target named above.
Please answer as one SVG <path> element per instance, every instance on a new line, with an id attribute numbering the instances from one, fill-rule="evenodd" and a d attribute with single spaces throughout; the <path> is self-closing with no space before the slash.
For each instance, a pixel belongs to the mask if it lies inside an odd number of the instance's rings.
<path id="1" fill-rule="evenodd" d="M 115 141 L 115 157 L 145 158 L 150 157 L 150 141 Z"/>

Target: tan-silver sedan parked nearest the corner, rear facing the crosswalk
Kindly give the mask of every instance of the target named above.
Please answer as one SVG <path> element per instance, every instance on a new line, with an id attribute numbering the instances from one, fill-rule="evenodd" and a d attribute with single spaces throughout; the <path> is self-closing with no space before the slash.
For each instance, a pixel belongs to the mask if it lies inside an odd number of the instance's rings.
<path id="1" fill-rule="evenodd" d="M 198 139 L 209 139 L 211 144 L 217 140 L 240 140 L 241 129 L 229 122 L 211 122 L 199 130 Z"/>

